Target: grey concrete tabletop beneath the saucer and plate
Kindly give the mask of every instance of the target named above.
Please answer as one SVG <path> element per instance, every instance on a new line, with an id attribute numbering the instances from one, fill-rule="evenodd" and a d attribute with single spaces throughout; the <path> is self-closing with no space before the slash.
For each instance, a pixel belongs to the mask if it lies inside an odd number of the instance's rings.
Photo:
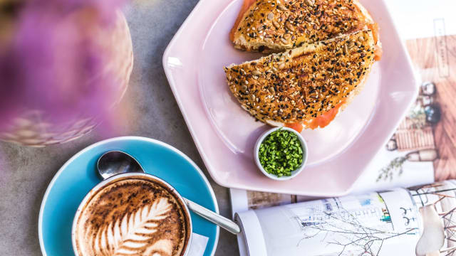
<path id="1" fill-rule="evenodd" d="M 120 109 L 127 122 L 109 137 L 137 135 L 158 139 L 204 164 L 190 137 L 162 68 L 162 55 L 197 0 L 141 0 L 125 8 L 133 37 L 135 65 L 130 87 Z M 41 255 L 38 211 L 51 178 L 73 154 L 106 139 L 94 131 L 67 144 L 28 148 L 0 142 L 0 255 Z M 229 216 L 227 188 L 211 180 L 222 215 Z M 220 232 L 215 255 L 238 255 L 237 240 Z"/>

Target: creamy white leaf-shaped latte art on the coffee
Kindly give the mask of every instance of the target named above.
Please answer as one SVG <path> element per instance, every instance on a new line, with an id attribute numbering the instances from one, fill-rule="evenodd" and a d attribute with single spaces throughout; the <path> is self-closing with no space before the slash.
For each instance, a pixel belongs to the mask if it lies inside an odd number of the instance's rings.
<path id="1" fill-rule="evenodd" d="M 157 230 L 157 221 L 167 218 L 172 205 L 160 198 L 151 205 L 118 218 L 100 228 L 91 241 L 96 255 L 138 255 Z M 157 241 L 157 242 L 160 242 Z M 163 242 L 163 241 L 161 241 Z M 152 245 L 153 247 L 153 245 Z M 167 253 L 167 252 L 165 252 Z"/>

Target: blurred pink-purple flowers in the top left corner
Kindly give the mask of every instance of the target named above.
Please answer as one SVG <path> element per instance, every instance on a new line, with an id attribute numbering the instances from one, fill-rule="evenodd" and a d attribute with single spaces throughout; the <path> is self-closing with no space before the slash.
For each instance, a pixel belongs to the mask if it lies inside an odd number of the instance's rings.
<path id="1" fill-rule="evenodd" d="M 24 1 L 8 43 L 0 43 L 0 129 L 24 110 L 53 122 L 100 117 L 118 97 L 96 35 L 122 0 Z M 3 127 L 2 127 L 3 126 Z"/>

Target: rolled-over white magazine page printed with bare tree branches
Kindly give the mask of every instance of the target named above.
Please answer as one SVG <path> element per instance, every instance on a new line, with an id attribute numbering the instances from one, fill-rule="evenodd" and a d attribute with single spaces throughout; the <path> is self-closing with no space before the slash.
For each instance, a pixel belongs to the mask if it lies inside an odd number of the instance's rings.
<path id="1" fill-rule="evenodd" d="M 247 198 L 264 199 L 249 191 Z M 242 229 L 243 255 L 429 256 L 455 253 L 455 210 L 456 181 L 451 180 L 251 208 L 234 218 Z"/>

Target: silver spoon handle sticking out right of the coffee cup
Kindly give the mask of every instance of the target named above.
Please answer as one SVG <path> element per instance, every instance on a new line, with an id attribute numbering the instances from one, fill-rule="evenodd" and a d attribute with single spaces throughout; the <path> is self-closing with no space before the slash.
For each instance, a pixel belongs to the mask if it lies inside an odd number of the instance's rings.
<path id="1" fill-rule="evenodd" d="M 190 210 L 192 210 L 194 213 L 201 216 L 202 218 L 209 220 L 215 225 L 219 225 L 219 227 L 224 228 L 225 230 L 229 231 L 230 233 L 233 233 L 234 235 L 241 233 L 241 228 L 239 228 L 239 225 L 237 225 L 237 223 L 235 223 L 234 221 L 224 218 L 222 215 L 214 213 L 212 210 L 199 206 L 199 204 L 192 202 L 187 198 L 184 198 L 184 201 Z"/>

